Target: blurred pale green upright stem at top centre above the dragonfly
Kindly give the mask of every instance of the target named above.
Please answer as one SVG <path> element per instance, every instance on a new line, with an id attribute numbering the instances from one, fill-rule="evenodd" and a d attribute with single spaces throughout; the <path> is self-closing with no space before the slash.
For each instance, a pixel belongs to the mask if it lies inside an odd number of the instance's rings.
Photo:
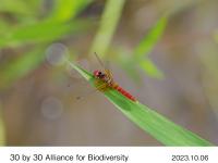
<path id="1" fill-rule="evenodd" d="M 90 53 L 97 52 L 101 58 L 106 54 L 119 23 L 124 2 L 125 0 L 107 1 L 100 27 L 90 48 Z"/>

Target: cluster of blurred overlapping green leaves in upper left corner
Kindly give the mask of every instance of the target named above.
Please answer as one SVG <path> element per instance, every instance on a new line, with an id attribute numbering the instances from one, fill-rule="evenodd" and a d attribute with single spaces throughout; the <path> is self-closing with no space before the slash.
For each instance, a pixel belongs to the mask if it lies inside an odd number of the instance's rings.
<path id="1" fill-rule="evenodd" d="M 77 35 L 90 26 L 89 20 L 71 18 L 75 17 L 82 9 L 87 7 L 92 1 L 60 1 L 57 0 L 56 8 L 50 16 L 43 21 L 34 23 L 22 22 L 10 29 L 10 33 L 3 33 L 0 38 L 0 47 L 24 47 L 25 45 L 37 43 L 31 51 L 24 52 L 22 55 L 12 59 L 8 65 L 0 68 L 1 82 L 0 87 L 10 87 L 19 78 L 25 76 L 35 70 L 43 59 L 45 59 L 45 50 L 47 45 L 52 41 L 60 40 L 63 36 Z M 19 8 L 19 7 L 17 7 Z M 66 12 L 68 11 L 68 12 Z M 0 23 L 1 24 L 1 23 Z M 8 30 L 3 24 L 2 29 Z"/>

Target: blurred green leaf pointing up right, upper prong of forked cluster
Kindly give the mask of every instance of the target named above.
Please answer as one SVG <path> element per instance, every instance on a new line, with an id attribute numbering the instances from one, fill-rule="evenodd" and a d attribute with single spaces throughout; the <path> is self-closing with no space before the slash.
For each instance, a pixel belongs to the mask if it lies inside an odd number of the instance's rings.
<path id="1" fill-rule="evenodd" d="M 142 60 L 157 45 L 157 41 L 160 39 L 166 28 L 167 21 L 167 16 L 161 17 L 157 22 L 157 24 L 149 30 L 149 33 L 144 36 L 144 38 L 141 40 L 134 51 L 135 58 L 137 60 Z"/>

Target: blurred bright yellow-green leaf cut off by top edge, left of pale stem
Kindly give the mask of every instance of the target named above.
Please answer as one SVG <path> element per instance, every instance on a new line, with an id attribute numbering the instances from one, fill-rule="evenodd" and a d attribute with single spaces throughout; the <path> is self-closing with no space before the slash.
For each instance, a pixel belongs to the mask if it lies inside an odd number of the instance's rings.
<path id="1" fill-rule="evenodd" d="M 50 20 L 65 22 L 75 17 L 93 0 L 56 0 Z"/>

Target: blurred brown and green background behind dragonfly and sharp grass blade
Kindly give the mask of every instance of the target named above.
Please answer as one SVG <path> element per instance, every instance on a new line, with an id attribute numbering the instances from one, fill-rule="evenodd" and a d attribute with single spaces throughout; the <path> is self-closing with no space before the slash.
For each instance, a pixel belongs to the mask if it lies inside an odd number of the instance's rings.
<path id="1" fill-rule="evenodd" d="M 0 145 L 160 146 L 86 96 L 64 60 L 102 68 L 94 52 L 142 103 L 218 145 L 217 11 L 217 0 L 0 0 Z"/>

